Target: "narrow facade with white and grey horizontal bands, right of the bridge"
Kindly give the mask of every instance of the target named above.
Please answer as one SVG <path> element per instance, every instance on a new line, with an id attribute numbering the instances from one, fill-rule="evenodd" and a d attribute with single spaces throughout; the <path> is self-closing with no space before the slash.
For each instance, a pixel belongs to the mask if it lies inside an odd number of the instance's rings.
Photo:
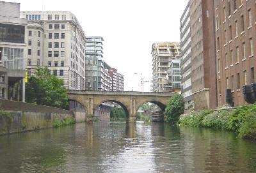
<path id="1" fill-rule="evenodd" d="M 185 102 L 185 109 L 188 105 L 194 105 L 192 94 L 192 73 L 191 73 L 191 33 L 190 33 L 190 13 L 189 3 L 180 17 L 180 66 L 181 66 L 181 86 L 182 96 Z"/>

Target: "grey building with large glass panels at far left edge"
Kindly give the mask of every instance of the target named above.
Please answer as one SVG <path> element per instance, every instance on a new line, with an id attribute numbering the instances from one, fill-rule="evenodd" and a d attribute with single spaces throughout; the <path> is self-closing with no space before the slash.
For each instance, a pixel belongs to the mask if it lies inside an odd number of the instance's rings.
<path id="1" fill-rule="evenodd" d="M 0 1 L 0 98 L 25 102 L 26 25 L 20 4 Z"/>

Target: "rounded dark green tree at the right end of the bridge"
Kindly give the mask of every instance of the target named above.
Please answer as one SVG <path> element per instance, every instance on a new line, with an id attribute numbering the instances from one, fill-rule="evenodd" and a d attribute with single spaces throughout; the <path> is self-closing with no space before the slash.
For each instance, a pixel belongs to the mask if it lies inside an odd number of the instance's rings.
<path id="1" fill-rule="evenodd" d="M 179 117 L 184 113 L 184 100 L 181 94 L 174 94 L 168 102 L 168 106 L 164 111 L 164 121 L 175 124 L 179 121 Z"/>

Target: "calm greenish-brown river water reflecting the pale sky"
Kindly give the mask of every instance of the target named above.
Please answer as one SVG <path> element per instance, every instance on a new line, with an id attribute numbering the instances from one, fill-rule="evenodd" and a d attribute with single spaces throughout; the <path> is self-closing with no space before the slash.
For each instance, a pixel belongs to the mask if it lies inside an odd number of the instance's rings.
<path id="1" fill-rule="evenodd" d="M 164 123 L 79 123 L 0 136 L 0 172 L 256 172 L 256 142 Z"/>

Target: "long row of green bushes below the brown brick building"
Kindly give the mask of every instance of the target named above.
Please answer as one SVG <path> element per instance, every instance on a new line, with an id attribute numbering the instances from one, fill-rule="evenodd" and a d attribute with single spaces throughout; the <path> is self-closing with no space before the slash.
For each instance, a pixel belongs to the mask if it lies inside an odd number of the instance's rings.
<path id="1" fill-rule="evenodd" d="M 223 128 L 239 137 L 256 139 L 256 105 L 242 105 L 233 112 L 202 110 L 180 116 L 179 122 L 185 126 Z"/>

